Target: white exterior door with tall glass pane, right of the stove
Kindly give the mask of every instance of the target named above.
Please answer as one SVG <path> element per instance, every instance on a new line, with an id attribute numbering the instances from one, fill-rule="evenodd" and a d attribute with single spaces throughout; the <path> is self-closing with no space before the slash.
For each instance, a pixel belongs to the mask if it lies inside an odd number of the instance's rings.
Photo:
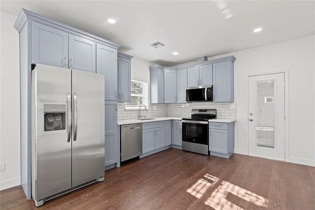
<path id="1" fill-rule="evenodd" d="M 284 160 L 284 73 L 248 77 L 249 155 Z"/>

